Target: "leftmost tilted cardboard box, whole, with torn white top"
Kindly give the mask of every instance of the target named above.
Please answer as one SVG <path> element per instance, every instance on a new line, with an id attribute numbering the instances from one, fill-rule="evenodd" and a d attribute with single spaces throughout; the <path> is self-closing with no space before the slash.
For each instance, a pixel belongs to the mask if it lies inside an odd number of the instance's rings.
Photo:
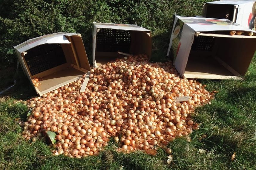
<path id="1" fill-rule="evenodd" d="M 42 77 L 38 88 L 33 85 L 40 96 L 76 81 L 91 69 L 80 34 L 43 35 L 14 49 L 31 84 L 31 79 Z"/>

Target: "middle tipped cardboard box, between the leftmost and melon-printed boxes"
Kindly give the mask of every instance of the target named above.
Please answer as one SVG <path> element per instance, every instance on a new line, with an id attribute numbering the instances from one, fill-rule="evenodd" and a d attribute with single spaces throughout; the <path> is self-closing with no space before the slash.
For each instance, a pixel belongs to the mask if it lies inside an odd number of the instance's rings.
<path id="1" fill-rule="evenodd" d="M 92 35 L 93 67 L 114 60 L 117 52 L 151 57 L 151 31 L 140 26 L 93 22 Z"/>

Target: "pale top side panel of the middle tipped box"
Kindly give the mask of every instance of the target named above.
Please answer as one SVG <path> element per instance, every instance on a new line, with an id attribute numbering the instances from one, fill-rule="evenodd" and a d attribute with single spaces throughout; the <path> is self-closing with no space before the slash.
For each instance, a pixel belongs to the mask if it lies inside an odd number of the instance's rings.
<path id="1" fill-rule="evenodd" d="M 131 25 L 131 24 L 109 24 L 109 23 L 93 22 L 93 25 L 95 25 L 96 28 L 125 29 L 125 30 L 131 30 L 131 31 L 147 31 L 147 32 L 151 32 L 148 29 L 145 29 L 145 28 L 137 26 L 137 25 Z"/>

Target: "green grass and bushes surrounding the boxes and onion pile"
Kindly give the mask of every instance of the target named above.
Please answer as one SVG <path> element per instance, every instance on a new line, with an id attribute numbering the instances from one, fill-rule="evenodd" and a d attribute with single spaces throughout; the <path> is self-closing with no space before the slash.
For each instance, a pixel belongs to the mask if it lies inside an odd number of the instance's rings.
<path id="1" fill-rule="evenodd" d="M 153 32 L 153 57 L 165 59 L 172 15 L 200 15 L 203 0 L 2 0 L 0 6 L 0 91 L 13 83 L 16 55 L 12 47 L 53 32 L 79 32 L 91 57 L 92 22 L 135 24 Z M 256 169 L 256 59 L 246 79 L 200 80 L 218 91 L 211 105 L 196 110 L 200 130 L 191 141 L 169 144 L 173 162 L 162 149 L 156 156 L 122 154 L 111 143 L 99 156 L 73 159 L 52 156 L 42 141 L 20 135 L 27 107 L 17 100 L 36 95 L 19 70 L 17 84 L 0 98 L 0 169 Z M 202 153 L 199 152 L 202 149 Z M 236 153 L 234 160 L 232 155 Z"/>

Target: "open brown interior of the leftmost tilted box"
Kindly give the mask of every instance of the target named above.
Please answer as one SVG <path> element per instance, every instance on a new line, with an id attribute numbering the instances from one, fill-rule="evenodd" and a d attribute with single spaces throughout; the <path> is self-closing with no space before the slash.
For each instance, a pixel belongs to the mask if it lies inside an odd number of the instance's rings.
<path id="1" fill-rule="evenodd" d="M 90 69 L 81 37 L 66 37 L 72 43 L 43 44 L 22 53 L 30 79 L 42 79 L 35 87 L 40 96 L 76 81 Z"/>

